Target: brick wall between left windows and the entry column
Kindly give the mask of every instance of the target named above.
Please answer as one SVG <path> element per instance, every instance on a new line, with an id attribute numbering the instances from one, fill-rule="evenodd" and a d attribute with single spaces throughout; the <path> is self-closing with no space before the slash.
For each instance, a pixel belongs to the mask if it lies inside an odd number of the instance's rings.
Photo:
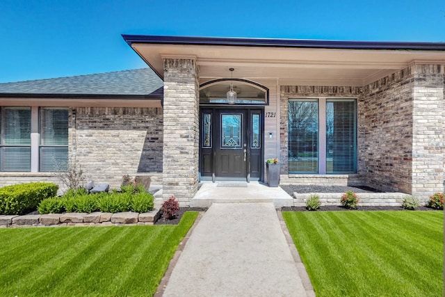
<path id="1" fill-rule="evenodd" d="M 118 188 L 122 175 L 161 184 L 163 111 L 155 108 L 70 109 L 70 161 L 97 183 Z"/>

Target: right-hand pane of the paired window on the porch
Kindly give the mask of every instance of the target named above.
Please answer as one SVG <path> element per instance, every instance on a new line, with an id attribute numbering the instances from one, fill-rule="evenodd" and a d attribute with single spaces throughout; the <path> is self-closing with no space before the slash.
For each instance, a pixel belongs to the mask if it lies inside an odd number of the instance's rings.
<path id="1" fill-rule="evenodd" d="M 357 108 L 355 100 L 326 101 L 326 172 L 357 170 Z"/>

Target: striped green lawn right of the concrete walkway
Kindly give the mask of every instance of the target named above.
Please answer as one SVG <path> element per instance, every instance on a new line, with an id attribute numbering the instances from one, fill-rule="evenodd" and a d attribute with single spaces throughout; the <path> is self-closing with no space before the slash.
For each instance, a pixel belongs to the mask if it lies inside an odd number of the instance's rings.
<path id="1" fill-rule="evenodd" d="M 443 296 L 442 211 L 283 212 L 316 296 Z"/>

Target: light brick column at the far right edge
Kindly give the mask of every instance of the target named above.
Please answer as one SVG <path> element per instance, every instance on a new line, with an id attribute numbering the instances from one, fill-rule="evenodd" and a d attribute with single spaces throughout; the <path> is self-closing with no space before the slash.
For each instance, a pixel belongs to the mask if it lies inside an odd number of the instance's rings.
<path id="1" fill-rule="evenodd" d="M 414 65 L 412 195 L 443 191 L 444 65 Z"/>

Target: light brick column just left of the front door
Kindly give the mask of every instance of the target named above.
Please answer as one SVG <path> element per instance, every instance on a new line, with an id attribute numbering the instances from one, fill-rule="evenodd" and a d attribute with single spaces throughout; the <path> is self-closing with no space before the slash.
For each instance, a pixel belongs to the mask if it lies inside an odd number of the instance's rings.
<path id="1" fill-rule="evenodd" d="M 197 192 L 199 83 L 195 58 L 164 58 L 163 200 L 188 206 Z"/>

